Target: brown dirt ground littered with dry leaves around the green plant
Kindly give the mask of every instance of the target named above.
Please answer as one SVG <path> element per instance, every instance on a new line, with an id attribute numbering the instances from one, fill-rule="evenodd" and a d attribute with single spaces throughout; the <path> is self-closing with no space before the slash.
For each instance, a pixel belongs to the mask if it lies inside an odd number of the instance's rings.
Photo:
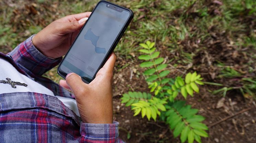
<path id="1" fill-rule="evenodd" d="M 160 0 L 152 2 L 152 7 L 156 7 L 159 1 Z M 7 2 L 0 2 L 0 4 L 3 4 L 8 8 L 12 8 L 11 4 L 15 3 L 15 1 L 8 0 L 8 2 L 9 4 Z M 42 15 L 44 11 L 49 10 L 49 12 L 45 15 L 50 17 L 49 15 L 57 13 L 57 10 L 53 9 L 56 5 L 58 5 L 58 3 L 55 3 L 55 6 L 52 4 L 53 6 L 50 6 L 49 8 L 47 6 L 49 6 L 50 4 L 48 4 L 45 7 L 42 7 L 42 10 L 39 10 L 39 8 L 35 6 L 33 7 L 33 3 L 31 4 L 29 0 L 19 1 L 19 4 L 23 6 L 14 6 L 13 10 L 7 10 L 7 12 L 9 11 L 10 13 L 12 13 L 10 17 L 10 22 L 8 22 L 7 24 L 13 26 L 10 29 L 16 32 L 16 37 L 14 38 L 17 39 L 20 37 L 21 39 L 25 39 L 26 37 L 29 37 L 31 33 L 33 33 L 26 30 L 19 31 L 19 29 L 24 29 L 24 27 L 26 27 L 25 25 L 31 23 L 31 21 L 34 20 L 36 24 L 40 24 L 42 27 L 44 27 L 47 25 L 47 23 L 49 23 L 50 20 L 61 17 L 60 15 L 56 17 L 51 16 L 51 18 L 48 18 L 47 20 L 46 18 L 42 18 L 42 16 L 35 16 L 37 14 L 37 10 L 40 11 Z M 209 13 L 209 15 L 214 15 L 214 13 L 216 14 L 218 13 L 218 11 L 221 11 L 218 4 L 213 3 L 212 1 L 206 1 L 205 5 L 208 7 L 207 13 Z M 33 13 L 35 13 L 34 16 L 31 16 L 33 15 Z M 193 6 L 191 6 L 186 11 L 186 13 L 188 13 L 188 15 L 191 15 L 191 17 L 187 18 L 185 22 L 187 24 L 196 23 L 195 17 L 198 17 L 198 13 L 193 12 Z M 6 11 L 4 12 L 3 7 L 0 9 L 0 14 L 6 14 Z M 147 10 L 145 10 L 145 15 L 146 14 Z M 27 18 L 27 15 L 30 15 L 30 17 L 32 18 Z M 166 16 L 171 17 L 171 15 L 175 15 L 178 17 L 182 15 L 182 13 L 180 10 L 173 11 L 172 13 L 166 13 Z M 131 31 L 139 29 L 138 27 L 136 27 L 140 23 L 138 19 L 143 19 L 143 16 L 139 18 L 138 17 L 139 16 L 137 16 L 136 21 L 130 27 Z M 239 22 L 243 22 L 246 26 L 245 31 L 243 31 L 242 33 L 243 35 L 249 35 L 251 29 L 255 29 L 256 27 L 255 17 L 253 16 L 240 15 L 239 20 Z M 170 20 L 170 22 L 168 22 L 167 24 L 173 25 L 174 23 L 174 20 Z M 5 25 L 2 25 L 2 27 L 5 28 Z M 198 27 L 196 26 L 191 26 L 191 31 L 196 31 L 197 28 Z M 210 36 L 205 38 L 202 42 L 198 42 L 198 39 L 195 36 L 185 37 L 184 40 L 178 41 L 178 48 L 181 51 L 186 53 L 194 53 L 195 55 L 191 59 L 192 62 L 190 64 L 179 64 L 176 68 L 170 69 L 170 77 L 181 75 L 184 71 L 197 71 L 197 73 L 201 74 L 204 78 L 203 81 L 220 83 L 228 87 L 237 85 L 240 86 L 240 80 L 242 77 L 217 78 L 217 76 L 221 73 L 221 69 L 216 66 L 218 62 L 221 62 L 225 66 L 232 67 L 236 71 L 243 73 L 243 77 L 256 77 L 256 61 L 250 56 L 255 56 L 255 47 L 242 46 L 241 48 L 239 48 L 235 44 L 232 44 L 233 41 L 228 32 L 220 31 L 217 27 L 214 26 L 209 27 L 207 29 L 207 33 Z M 0 34 L 1 37 L 4 37 L 5 35 L 7 35 L 7 33 L 3 32 L 2 35 Z M 233 33 L 233 37 L 235 37 L 236 39 L 240 38 L 239 35 L 241 35 L 241 33 Z M 126 36 L 126 34 L 124 36 Z M 11 38 L 13 39 L 13 37 Z M 15 42 L 17 42 L 17 40 L 15 40 Z M 13 42 L 12 44 L 18 44 L 15 42 Z M 124 39 L 123 42 L 125 42 Z M 8 41 L 6 43 L 8 43 Z M 171 51 L 170 48 L 165 45 L 165 42 L 157 41 L 156 47 L 158 51 L 161 51 L 160 56 L 165 57 L 166 60 L 175 59 L 170 62 L 171 65 L 174 65 L 178 62 L 177 57 L 182 58 L 180 56 L 179 49 L 177 49 L 176 51 Z M 13 47 L 8 44 L 1 44 L 0 52 L 8 53 L 12 50 L 12 48 Z M 173 138 L 172 131 L 169 129 L 168 125 L 161 121 L 148 121 L 145 117 L 141 119 L 140 115 L 134 117 L 130 107 L 126 107 L 120 102 L 122 94 L 128 91 L 149 92 L 149 90 L 147 88 L 145 77 L 142 75 L 142 72 L 145 69 L 139 67 L 141 61 L 138 60 L 137 56 L 134 56 L 136 55 L 136 53 L 130 53 L 131 58 L 127 58 L 120 51 L 117 51 L 116 55 L 117 61 L 113 82 L 113 102 L 114 120 L 120 123 L 119 137 L 128 143 L 180 142 L 179 138 Z M 254 71 L 248 72 L 250 70 L 249 67 L 253 67 Z M 54 74 L 47 73 L 47 75 L 54 77 L 52 79 L 55 79 L 56 77 L 55 70 L 56 69 L 53 70 Z M 202 138 L 202 142 L 255 143 L 255 99 L 253 98 L 253 96 L 248 96 L 247 94 L 245 94 L 246 96 L 243 96 L 239 89 L 228 91 L 225 97 L 218 94 L 215 95 L 210 92 L 219 88 L 219 86 L 214 85 L 200 86 L 200 93 L 196 94 L 196 96 L 193 98 L 188 97 L 187 99 L 187 104 L 192 105 L 193 108 L 199 109 L 199 114 L 206 117 L 205 121 L 203 122 L 209 127 L 209 138 Z M 181 97 L 179 98 L 183 99 Z M 127 139 L 127 134 L 130 134 L 130 139 Z"/>

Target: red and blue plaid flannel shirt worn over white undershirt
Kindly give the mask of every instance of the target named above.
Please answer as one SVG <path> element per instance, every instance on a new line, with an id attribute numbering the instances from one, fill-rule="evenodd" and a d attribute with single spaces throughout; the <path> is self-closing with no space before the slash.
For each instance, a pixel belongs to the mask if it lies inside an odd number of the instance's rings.
<path id="1" fill-rule="evenodd" d="M 55 95 L 74 98 L 69 91 L 43 77 L 57 66 L 61 58 L 52 60 L 40 53 L 31 37 L 8 55 L 0 53 L 20 73 L 44 85 Z M 3 67 L 0 67 L 3 68 Z M 1 85 L 0 85 L 1 90 Z M 92 142 L 114 143 L 118 139 L 118 122 L 87 124 L 58 98 L 34 92 L 0 94 L 0 142 Z"/>

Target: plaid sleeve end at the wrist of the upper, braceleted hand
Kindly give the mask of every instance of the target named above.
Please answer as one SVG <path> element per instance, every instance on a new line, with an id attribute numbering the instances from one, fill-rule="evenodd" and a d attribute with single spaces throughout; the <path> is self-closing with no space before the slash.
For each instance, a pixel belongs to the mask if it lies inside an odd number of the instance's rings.
<path id="1" fill-rule="evenodd" d="M 47 58 L 32 44 L 32 36 L 8 54 L 28 75 L 42 75 L 57 66 L 62 60 L 62 57 L 55 60 Z"/>

